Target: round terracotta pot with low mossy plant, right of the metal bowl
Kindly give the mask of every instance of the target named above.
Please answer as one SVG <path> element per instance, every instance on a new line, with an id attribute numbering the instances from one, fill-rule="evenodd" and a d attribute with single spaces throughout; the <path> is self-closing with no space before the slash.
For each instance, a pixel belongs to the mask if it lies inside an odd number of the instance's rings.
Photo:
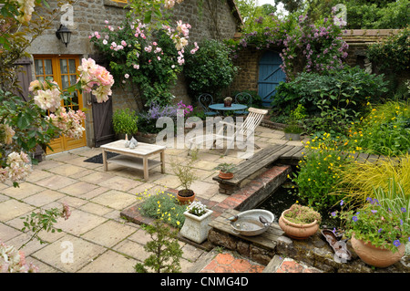
<path id="1" fill-rule="evenodd" d="M 316 234 L 321 221 L 321 214 L 313 208 L 294 203 L 291 208 L 282 212 L 278 223 L 288 236 L 294 239 L 306 239 Z"/>

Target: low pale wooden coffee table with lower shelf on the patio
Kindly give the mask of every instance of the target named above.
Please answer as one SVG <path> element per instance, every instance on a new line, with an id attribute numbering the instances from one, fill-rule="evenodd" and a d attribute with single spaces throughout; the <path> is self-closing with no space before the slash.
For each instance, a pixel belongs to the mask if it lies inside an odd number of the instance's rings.
<path id="1" fill-rule="evenodd" d="M 149 179 L 149 170 L 161 166 L 161 172 L 165 173 L 165 146 L 138 142 L 134 149 L 125 147 L 125 140 L 117 140 L 102 145 L 103 167 L 108 171 L 108 162 L 122 166 L 135 168 L 144 172 L 144 180 Z M 118 153 L 118 156 L 107 159 L 107 151 Z M 160 161 L 150 160 L 149 157 L 159 154 Z"/>

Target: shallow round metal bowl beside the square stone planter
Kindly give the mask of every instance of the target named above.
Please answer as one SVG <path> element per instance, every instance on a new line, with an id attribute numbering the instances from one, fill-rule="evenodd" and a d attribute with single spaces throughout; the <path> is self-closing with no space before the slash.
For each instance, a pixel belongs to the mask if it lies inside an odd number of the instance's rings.
<path id="1" fill-rule="evenodd" d="M 260 217 L 264 218 L 267 223 L 261 223 Z M 267 210 L 252 209 L 239 213 L 230 220 L 235 234 L 253 236 L 266 232 L 274 218 L 273 213 Z"/>

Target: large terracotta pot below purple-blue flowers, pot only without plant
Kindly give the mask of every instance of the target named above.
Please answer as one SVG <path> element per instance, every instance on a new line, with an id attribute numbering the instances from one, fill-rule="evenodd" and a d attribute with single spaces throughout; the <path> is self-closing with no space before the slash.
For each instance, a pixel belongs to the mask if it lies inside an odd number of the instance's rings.
<path id="1" fill-rule="evenodd" d="M 405 244 L 400 244 L 395 253 L 392 251 L 375 247 L 372 244 L 364 243 L 364 241 L 356 239 L 354 235 L 351 239 L 354 252 L 368 265 L 384 268 L 389 265 L 393 265 L 400 261 L 403 255 L 405 255 Z"/>

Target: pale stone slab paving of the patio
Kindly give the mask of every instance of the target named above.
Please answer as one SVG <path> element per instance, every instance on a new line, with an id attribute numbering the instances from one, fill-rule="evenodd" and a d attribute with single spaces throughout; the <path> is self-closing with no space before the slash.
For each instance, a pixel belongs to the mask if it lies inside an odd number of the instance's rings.
<path id="1" fill-rule="evenodd" d="M 255 142 L 263 149 L 270 144 L 288 143 L 300 145 L 300 141 L 284 140 L 282 131 L 259 127 Z M 260 150 L 256 150 L 260 151 Z M 188 150 L 166 150 L 166 173 L 160 167 L 149 171 L 149 181 L 142 178 L 142 171 L 109 164 L 109 171 L 103 171 L 102 164 L 85 162 L 87 158 L 100 153 L 100 149 L 80 148 L 52 154 L 46 161 L 33 166 L 33 172 L 14 188 L 11 183 L 0 184 L 0 240 L 19 247 L 30 238 L 23 233 L 22 216 L 39 207 L 50 209 L 67 203 L 71 217 L 58 220 L 56 228 L 61 233 L 40 233 L 46 244 L 37 240 L 26 244 L 23 251 L 27 262 L 33 262 L 42 273 L 132 273 L 134 265 L 148 256 L 144 244 L 149 236 L 136 223 L 120 218 L 120 212 L 137 203 L 136 193 L 146 189 L 178 189 L 179 181 L 172 173 L 171 159 L 186 159 Z M 212 169 L 220 162 L 240 163 L 238 151 L 222 156 L 223 150 L 201 150 L 195 162 L 199 180 L 190 187 L 201 198 L 220 203 L 227 196 L 218 192 L 218 183 L 212 181 L 216 171 Z M 73 245 L 74 260 L 63 263 L 65 244 Z M 208 252 L 180 242 L 183 258 L 182 272 L 192 272 L 195 264 Z M 218 257 L 220 259 L 220 257 Z M 251 265 L 244 272 L 261 271 L 261 266 Z M 243 265 L 242 265 L 243 267 Z M 221 269 L 220 269 L 221 270 Z"/>

